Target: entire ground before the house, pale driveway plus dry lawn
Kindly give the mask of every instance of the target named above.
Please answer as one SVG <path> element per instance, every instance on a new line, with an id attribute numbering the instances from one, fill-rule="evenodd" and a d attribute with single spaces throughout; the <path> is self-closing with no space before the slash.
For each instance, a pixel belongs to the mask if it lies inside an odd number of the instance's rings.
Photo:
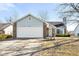
<path id="1" fill-rule="evenodd" d="M 56 37 L 56 40 L 0 41 L 0 56 L 79 56 L 79 39 Z"/>

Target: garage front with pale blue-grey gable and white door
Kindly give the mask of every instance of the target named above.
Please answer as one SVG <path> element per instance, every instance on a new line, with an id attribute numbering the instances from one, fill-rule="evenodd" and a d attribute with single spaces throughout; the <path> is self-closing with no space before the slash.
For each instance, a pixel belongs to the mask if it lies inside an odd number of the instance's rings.
<path id="1" fill-rule="evenodd" d="M 44 22 L 32 15 L 27 15 L 15 22 L 14 36 L 16 38 L 43 38 Z"/>

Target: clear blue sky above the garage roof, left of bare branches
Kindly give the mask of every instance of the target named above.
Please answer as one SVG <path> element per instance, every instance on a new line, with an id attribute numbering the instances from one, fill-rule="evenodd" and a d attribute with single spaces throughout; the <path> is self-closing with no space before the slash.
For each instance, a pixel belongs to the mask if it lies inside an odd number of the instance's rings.
<path id="1" fill-rule="evenodd" d="M 48 20 L 60 21 L 56 12 L 58 6 L 59 4 L 55 3 L 0 3 L 0 20 L 5 22 L 8 17 L 14 14 L 18 15 L 18 17 L 27 15 L 28 13 L 38 16 L 40 11 L 48 11 Z"/>

